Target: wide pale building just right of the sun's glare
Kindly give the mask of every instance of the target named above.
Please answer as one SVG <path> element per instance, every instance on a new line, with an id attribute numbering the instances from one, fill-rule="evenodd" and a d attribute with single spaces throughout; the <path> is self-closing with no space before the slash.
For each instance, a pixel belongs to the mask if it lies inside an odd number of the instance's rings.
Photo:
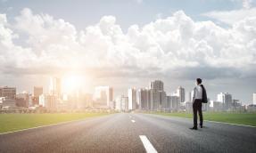
<path id="1" fill-rule="evenodd" d="M 110 86 L 95 87 L 95 107 L 110 108 L 113 101 L 113 88 Z"/>

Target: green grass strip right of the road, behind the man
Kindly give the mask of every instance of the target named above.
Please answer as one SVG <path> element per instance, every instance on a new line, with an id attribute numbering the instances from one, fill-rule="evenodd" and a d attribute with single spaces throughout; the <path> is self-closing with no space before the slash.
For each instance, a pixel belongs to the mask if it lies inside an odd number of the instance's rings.
<path id="1" fill-rule="evenodd" d="M 153 113 L 163 116 L 171 116 L 171 117 L 186 117 L 192 118 L 192 113 Z M 230 124 L 238 124 L 238 125 L 252 125 L 256 126 L 256 113 L 226 113 L 226 112 L 203 112 L 203 119 L 210 121 L 218 121 Z"/>

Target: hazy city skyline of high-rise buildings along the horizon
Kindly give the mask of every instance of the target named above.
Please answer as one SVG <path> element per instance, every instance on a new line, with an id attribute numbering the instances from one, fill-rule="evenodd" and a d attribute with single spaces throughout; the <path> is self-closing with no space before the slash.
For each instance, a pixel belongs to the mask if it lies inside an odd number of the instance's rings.
<path id="1" fill-rule="evenodd" d="M 67 79 L 71 81 L 74 80 Z M 67 81 L 65 80 L 65 81 Z M 116 94 L 109 86 L 95 86 L 94 93 L 83 93 L 79 88 L 65 93 L 62 88 L 69 84 L 62 84 L 58 77 L 50 78 L 49 91 L 43 87 L 34 86 L 34 93 L 16 93 L 16 87 L 0 87 L 0 106 L 4 109 L 49 109 L 49 110 L 86 110 L 109 109 L 116 111 L 168 111 L 191 112 L 192 94 L 186 96 L 186 89 L 178 86 L 176 92 L 166 93 L 164 82 L 152 80 L 148 86 L 128 88 L 128 93 Z M 218 93 L 217 99 L 208 97 L 208 103 L 202 104 L 203 111 L 254 111 L 255 93 L 252 94 L 253 103 L 249 105 L 235 99 L 231 93 Z M 188 97 L 188 100 L 185 100 Z"/>

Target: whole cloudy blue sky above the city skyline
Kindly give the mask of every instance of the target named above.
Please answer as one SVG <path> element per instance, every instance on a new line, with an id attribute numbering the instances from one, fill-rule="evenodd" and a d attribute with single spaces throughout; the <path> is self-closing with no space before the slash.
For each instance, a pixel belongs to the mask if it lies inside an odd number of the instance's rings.
<path id="1" fill-rule="evenodd" d="M 256 1 L 0 0 L 0 65 L 0 85 L 19 92 L 72 76 L 88 93 L 127 94 L 154 79 L 188 93 L 201 77 L 211 100 L 224 92 L 249 104 Z"/>

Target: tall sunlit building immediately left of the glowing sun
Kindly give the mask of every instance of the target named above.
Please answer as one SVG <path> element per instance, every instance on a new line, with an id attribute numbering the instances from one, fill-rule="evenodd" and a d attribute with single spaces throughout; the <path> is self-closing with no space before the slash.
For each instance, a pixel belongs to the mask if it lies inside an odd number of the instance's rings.
<path id="1" fill-rule="evenodd" d="M 51 77 L 49 90 L 50 90 L 50 94 L 60 96 L 62 92 L 61 78 Z"/>

